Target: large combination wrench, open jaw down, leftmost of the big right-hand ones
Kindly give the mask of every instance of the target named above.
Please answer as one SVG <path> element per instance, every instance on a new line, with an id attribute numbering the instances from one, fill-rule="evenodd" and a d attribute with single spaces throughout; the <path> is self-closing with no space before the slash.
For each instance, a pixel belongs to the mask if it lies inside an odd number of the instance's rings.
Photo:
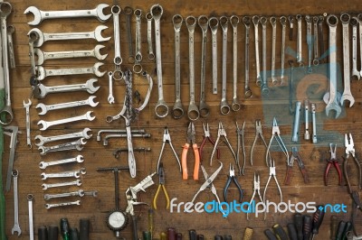
<path id="1" fill-rule="evenodd" d="M 337 43 L 337 25 L 338 17 L 334 14 L 329 14 L 327 17 L 327 24 L 329 25 L 329 49 L 335 49 Z M 348 69 L 349 74 L 349 69 Z M 349 81 L 349 79 L 348 79 Z M 329 111 L 336 112 L 336 118 L 340 115 L 342 109 L 338 105 L 337 99 L 337 52 L 336 50 L 329 52 L 329 102 L 326 106 L 326 115 Z"/>

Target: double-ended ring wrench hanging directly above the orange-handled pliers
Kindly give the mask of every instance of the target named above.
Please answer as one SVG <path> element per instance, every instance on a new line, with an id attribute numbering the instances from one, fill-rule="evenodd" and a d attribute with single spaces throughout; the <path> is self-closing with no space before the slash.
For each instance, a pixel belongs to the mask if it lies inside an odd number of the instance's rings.
<path id="1" fill-rule="evenodd" d="M 190 103 L 187 109 L 187 116 L 188 119 L 191 121 L 195 121 L 200 116 L 198 111 L 198 107 L 195 104 L 195 51 L 194 51 L 194 44 L 195 44 L 195 25 L 196 25 L 196 18 L 194 16 L 187 16 L 186 17 L 186 27 L 188 29 L 188 57 L 189 57 L 189 64 L 188 64 L 188 71 L 189 71 L 189 85 L 190 85 Z"/>

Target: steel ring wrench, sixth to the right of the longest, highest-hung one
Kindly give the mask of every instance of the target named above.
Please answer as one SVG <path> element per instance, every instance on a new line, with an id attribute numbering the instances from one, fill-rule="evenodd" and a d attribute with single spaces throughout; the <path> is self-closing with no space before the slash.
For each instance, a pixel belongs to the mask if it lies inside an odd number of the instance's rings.
<path id="1" fill-rule="evenodd" d="M 233 15 L 230 17 L 230 23 L 233 27 L 233 111 L 240 110 L 240 103 L 237 97 L 237 25 L 239 24 L 239 17 Z"/>

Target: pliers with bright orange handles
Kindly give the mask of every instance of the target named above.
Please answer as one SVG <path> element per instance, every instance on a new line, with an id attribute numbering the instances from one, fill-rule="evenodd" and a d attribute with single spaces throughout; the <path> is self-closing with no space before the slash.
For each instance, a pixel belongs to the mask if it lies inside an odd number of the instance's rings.
<path id="1" fill-rule="evenodd" d="M 195 155 L 195 165 L 194 165 L 194 180 L 198 180 L 198 170 L 200 168 L 200 153 L 198 152 L 198 146 L 195 143 L 195 125 L 194 123 L 190 123 L 187 127 L 187 142 L 183 146 L 182 155 L 181 155 L 181 165 L 182 165 L 182 179 L 187 180 L 187 152 L 190 144 L 192 144 L 192 148 L 194 149 Z"/>

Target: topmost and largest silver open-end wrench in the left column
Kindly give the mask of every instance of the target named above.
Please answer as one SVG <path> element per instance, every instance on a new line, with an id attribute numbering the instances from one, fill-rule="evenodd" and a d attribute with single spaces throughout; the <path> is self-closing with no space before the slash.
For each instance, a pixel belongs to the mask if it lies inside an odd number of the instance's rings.
<path id="1" fill-rule="evenodd" d="M 37 25 L 45 19 L 57 18 L 74 18 L 74 17 L 96 17 L 100 23 L 104 23 L 110 19 L 110 14 L 103 14 L 103 10 L 109 5 L 100 4 L 94 9 L 87 10 L 62 10 L 62 11 L 42 11 L 36 6 L 29 6 L 25 9 L 24 14 L 33 14 L 34 20 L 28 22 L 29 25 Z"/>

